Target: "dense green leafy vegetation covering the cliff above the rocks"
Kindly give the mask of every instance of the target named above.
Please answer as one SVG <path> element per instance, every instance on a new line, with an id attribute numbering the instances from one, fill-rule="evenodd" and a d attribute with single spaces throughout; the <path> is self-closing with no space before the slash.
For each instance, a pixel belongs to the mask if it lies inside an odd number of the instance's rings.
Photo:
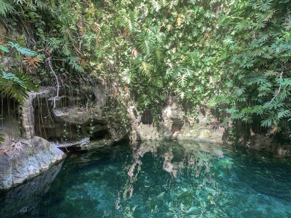
<path id="1" fill-rule="evenodd" d="M 175 97 L 213 128 L 291 137 L 291 0 L 0 0 L 0 20 L 0 58 L 18 63 L 0 91 L 19 101 L 94 80 L 155 121 Z"/>

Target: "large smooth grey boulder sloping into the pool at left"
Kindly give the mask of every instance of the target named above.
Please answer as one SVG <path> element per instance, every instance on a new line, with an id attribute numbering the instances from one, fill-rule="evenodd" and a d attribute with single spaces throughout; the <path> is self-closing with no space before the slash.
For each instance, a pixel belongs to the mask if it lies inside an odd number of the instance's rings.
<path id="1" fill-rule="evenodd" d="M 0 152 L 0 191 L 40 174 L 65 156 L 63 151 L 41 137 L 16 140 L 10 151 Z"/>

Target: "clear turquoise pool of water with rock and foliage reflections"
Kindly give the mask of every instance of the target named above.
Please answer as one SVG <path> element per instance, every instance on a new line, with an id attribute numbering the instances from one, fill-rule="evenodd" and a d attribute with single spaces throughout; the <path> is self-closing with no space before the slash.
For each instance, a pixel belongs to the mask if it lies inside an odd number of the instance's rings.
<path id="1" fill-rule="evenodd" d="M 0 197 L 1 218 L 291 218 L 291 160 L 198 142 L 73 153 Z"/>

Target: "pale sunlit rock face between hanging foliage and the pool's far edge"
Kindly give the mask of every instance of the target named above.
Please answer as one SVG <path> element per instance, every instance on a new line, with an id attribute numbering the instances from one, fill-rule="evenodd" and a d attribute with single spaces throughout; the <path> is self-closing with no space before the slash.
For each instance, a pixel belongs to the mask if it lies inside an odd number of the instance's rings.
<path id="1" fill-rule="evenodd" d="M 129 109 L 131 120 L 131 139 L 155 140 L 155 139 L 178 139 L 178 140 L 205 140 L 223 142 L 225 130 L 223 128 L 213 130 L 206 124 L 207 115 L 199 113 L 199 116 L 188 118 L 187 122 L 182 116 L 182 110 L 178 104 L 173 103 L 162 110 L 162 120 L 156 128 L 153 123 L 144 124 L 142 116 L 134 107 Z"/>

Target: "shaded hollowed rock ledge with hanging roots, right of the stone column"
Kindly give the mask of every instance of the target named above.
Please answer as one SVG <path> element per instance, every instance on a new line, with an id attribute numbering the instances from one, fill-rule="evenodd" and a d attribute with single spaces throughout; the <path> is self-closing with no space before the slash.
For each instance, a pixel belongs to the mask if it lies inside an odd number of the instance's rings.
<path id="1" fill-rule="evenodd" d="M 35 134 L 59 148 L 78 150 L 108 146 L 122 140 L 127 131 L 118 121 L 107 119 L 104 112 L 111 98 L 110 87 L 96 84 L 87 91 L 72 94 L 63 90 L 57 98 L 52 94 L 35 98 L 32 103 Z"/>

